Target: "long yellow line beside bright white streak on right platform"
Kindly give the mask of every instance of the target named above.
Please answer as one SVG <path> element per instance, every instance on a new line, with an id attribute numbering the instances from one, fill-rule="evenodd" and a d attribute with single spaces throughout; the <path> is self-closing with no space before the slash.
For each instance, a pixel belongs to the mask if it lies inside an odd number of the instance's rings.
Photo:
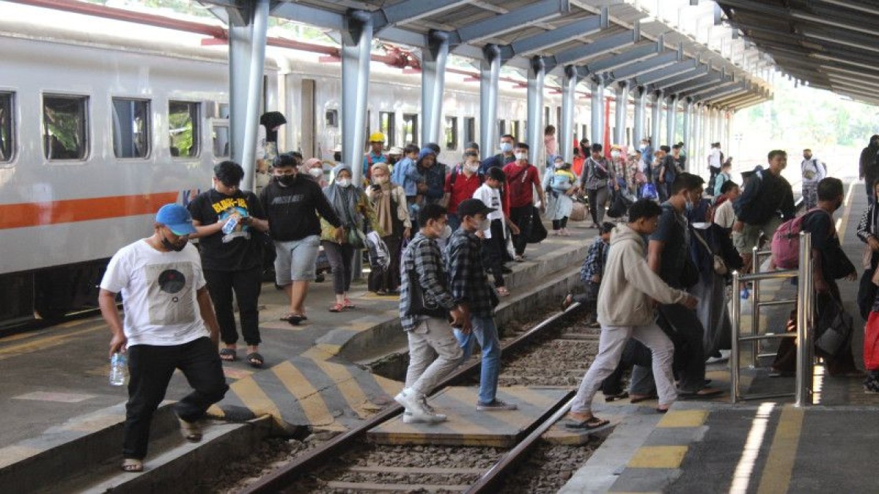
<path id="1" fill-rule="evenodd" d="M 785 405 L 781 410 L 778 426 L 775 427 L 775 437 L 766 456 L 766 466 L 760 476 L 757 494 L 788 491 L 802 430 L 803 409 Z"/>

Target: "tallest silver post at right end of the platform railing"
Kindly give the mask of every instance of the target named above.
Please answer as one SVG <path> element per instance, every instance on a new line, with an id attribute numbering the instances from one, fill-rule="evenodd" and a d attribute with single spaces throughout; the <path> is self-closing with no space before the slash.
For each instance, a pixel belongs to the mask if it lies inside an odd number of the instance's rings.
<path id="1" fill-rule="evenodd" d="M 795 406 L 812 402 L 812 328 L 808 314 L 812 310 L 812 237 L 800 232 L 800 272 L 797 285 L 796 311 L 796 395 Z"/>

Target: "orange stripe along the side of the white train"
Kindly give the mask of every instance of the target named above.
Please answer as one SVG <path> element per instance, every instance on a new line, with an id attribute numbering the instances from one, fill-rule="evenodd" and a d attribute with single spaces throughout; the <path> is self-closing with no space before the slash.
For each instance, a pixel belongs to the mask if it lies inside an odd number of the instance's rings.
<path id="1" fill-rule="evenodd" d="M 138 214 L 154 214 L 175 202 L 178 192 L 118 195 L 89 199 L 53 200 L 0 204 L 0 229 L 20 229 L 59 223 L 106 220 Z"/>

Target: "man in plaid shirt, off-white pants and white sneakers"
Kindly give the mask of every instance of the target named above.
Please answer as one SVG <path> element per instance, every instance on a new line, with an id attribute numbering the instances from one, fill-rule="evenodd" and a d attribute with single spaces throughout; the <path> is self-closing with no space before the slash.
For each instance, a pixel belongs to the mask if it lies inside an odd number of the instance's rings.
<path id="1" fill-rule="evenodd" d="M 425 396 L 440 378 L 461 361 L 461 347 L 449 328 L 460 324 L 469 330 L 469 321 L 447 289 L 446 271 L 438 238 L 452 233 L 446 208 L 427 204 L 418 211 L 418 234 L 403 251 L 403 282 L 400 290 L 400 323 L 409 338 L 409 368 L 406 387 L 395 396 L 406 408 L 403 422 L 438 423 L 446 416 L 433 411 Z M 437 359 L 433 360 L 433 352 Z"/>

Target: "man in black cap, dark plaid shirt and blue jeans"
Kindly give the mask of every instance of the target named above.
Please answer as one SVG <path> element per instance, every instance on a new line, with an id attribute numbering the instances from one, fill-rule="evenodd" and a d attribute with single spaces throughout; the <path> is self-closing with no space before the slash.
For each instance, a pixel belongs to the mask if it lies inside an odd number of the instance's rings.
<path id="1" fill-rule="evenodd" d="M 473 352 L 473 337 L 483 349 L 482 374 L 479 378 L 479 398 L 476 410 L 516 410 L 516 405 L 498 400 L 498 374 L 500 374 L 500 340 L 498 326 L 494 321 L 494 309 L 498 295 L 489 285 L 483 266 L 482 243 L 477 231 L 488 228 L 487 215 L 495 209 L 483 201 L 469 199 L 458 205 L 461 228 L 452 234 L 446 246 L 446 265 L 452 298 L 463 309 L 468 327 L 455 329 L 454 336 L 464 349 L 462 360 Z"/>

